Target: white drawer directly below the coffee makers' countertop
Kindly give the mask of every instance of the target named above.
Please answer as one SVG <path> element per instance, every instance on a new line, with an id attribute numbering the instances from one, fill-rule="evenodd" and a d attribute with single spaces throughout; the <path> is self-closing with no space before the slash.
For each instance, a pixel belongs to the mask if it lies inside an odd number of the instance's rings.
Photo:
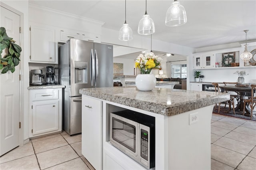
<path id="1" fill-rule="evenodd" d="M 32 101 L 59 99 L 58 89 L 31 90 Z"/>

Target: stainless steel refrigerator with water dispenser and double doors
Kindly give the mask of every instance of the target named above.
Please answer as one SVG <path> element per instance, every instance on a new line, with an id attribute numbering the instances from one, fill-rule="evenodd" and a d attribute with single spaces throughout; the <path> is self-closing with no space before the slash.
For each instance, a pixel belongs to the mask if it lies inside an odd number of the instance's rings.
<path id="1" fill-rule="evenodd" d="M 82 96 L 79 89 L 113 87 L 113 46 L 70 39 L 59 47 L 63 91 L 63 128 L 72 135 L 82 131 Z"/>

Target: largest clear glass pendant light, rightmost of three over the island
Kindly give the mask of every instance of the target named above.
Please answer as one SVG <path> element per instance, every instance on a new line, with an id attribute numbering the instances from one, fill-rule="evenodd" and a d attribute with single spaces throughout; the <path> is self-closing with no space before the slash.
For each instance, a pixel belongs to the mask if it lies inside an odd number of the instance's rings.
<path id="1" fill-rule="evenodd" d="M 172 2 L 172 6 L 170 6 L 166 12 L 165 25 L 174 27 L 186 24 L 186 22 L 187 15 L 185 8 L 178 0 L 174 0 L 174 2 Z"/>

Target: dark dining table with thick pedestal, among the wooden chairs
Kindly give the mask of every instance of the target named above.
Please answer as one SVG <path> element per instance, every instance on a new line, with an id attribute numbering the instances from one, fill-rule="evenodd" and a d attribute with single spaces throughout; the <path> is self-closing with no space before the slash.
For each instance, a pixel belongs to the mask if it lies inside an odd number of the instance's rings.
<path id="1" fill-rule="evenodd" d="M 235 111 L 238 111 L 238 113 L 242 113 L 244 109 L 244 99 L 246 97 L 246 93 L 251 93 L 252 92 L 252 87 L 246 86 L 246 85 L 223 85 L 219 86 L 220 87 L 220 92 L 228 92 L 228 91 L 234 91 L 237 92 L 238 95 L 240 96 L 240 100 L 238 101 L 238 104 L 236 105 Z M 255 91 L 254 91 L 255 93 Z M 251 95 L 251 94 L 250 94 Z M 250 116 L 251 114 L 251 109 L 249 107 L 245 108 L 246 113 L 244 115 Z M 256 116 L 256 113 L 252 111 L 253 117 Z"/>

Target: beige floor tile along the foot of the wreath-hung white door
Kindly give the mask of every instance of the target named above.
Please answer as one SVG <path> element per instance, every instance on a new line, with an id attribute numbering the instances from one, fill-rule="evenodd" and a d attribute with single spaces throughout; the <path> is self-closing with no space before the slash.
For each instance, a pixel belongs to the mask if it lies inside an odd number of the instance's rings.
<path id="1" fill-rule="evenodd" d="M 8 152 L 4 156 L 0 158 L 0 163 L 8 162 L 10 160 L 15 160 L 18 158 L 23 158 L 25 156 L 29 156 L 34 154 L 33 146 L 31 143 L 27 143 L 23 146 L 15 148 L 14 150 Z"/>

